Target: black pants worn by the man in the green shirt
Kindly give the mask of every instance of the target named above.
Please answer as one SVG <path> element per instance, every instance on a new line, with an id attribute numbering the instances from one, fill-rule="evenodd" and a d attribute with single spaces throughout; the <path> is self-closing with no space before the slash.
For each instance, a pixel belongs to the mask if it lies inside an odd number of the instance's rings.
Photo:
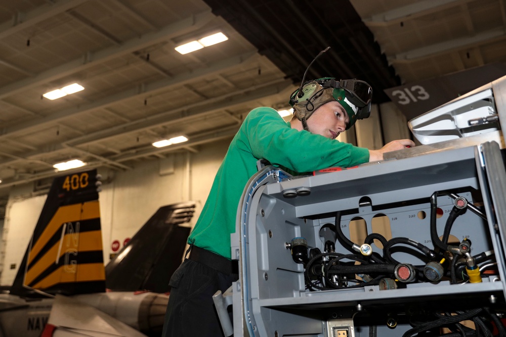
<path id="1" fill-rule="evenodd" d="M 234 280 L 230 275 L 186 259 L 169 283 L 172 289 L 162 337 L 223 336 L 213 295 L 218 290 L 224 293 Z"/>

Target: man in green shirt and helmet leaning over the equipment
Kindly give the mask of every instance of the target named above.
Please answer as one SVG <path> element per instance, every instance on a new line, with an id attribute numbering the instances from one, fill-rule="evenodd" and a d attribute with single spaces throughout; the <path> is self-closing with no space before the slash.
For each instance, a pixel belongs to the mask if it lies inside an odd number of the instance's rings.
<path id="1" fill-rule="evenodd" d="M 383 160 L 389 151 L 413 147 L 410 139 L 394 140 L 368 150 L 335 140 L 357 119 L 370 114 L 372 90 L 357 80 L 309 81 L 290 97 L 293 118 L 285 122 L 276 110 L 252 110 L 232 139 L 207 201 L 189 238 L 191 251 L 171 278 L 163 336 L 221 336 L 212 296 L 236 280 L 230 234 L 235 232 L 239 199 L 257 162 L 266 159 L 288 172 L 305 173 Z"/>

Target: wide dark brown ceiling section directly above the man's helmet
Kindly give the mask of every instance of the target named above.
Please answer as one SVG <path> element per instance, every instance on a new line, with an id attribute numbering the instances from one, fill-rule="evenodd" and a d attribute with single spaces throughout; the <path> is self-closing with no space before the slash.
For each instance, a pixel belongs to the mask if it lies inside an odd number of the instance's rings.
<path id="1" fill-rule="evenodd" d="M 349 0 L 340 2 L 339 11 L 334 11 L 327 1 L 305 2 L 304 6 L 294 6 L 291 0 L 204 1 L 296 84 L 300 84 L 309 63 L 326 46 L 332 50 L 312 64 L 306 79 L 362 78 L 375 90 L 375 102 L 388 100 L 383 88 L 400 83 Z M 287 15 L 280 18 L 280 11 Z M 356 42 L 365 41 L 367 47 L 356 50 L 350 45 L 349 40 L 357 35 L 364 38 Z"/>

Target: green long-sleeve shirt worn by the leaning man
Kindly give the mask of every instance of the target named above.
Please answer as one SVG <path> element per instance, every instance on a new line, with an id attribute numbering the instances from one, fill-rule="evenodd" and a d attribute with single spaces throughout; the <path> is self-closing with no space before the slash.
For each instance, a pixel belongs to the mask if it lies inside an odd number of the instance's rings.
<path id="1" fill-rule="evenodd" d="M 247 181 L 257 172 L 259 159 L 303 173 L 366 163 L 369 151 L 292 129 L 274 109 L 252 110 L 230 143 L 188 244 L 230 259 L 230 234 L 235 232 L 239 199 Z"/>

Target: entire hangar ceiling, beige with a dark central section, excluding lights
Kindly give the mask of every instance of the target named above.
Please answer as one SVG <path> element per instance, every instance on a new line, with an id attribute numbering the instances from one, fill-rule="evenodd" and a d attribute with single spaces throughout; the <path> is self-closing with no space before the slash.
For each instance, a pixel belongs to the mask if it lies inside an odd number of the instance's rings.
<path id="1" fill-rule="evenodd" d="M 184 42 L 228 40 L 181 55 Z M 230 138 L 257 106 L 287 108 L 307 65 L 383 89 L 506 61 L 505 0 L 5 0 L 0 195 L 81 159 L 129 170 Z M 84 90 L 42 95 L 77 82 Z M 184 133 L 166 148 L 151 143 Z"/>

